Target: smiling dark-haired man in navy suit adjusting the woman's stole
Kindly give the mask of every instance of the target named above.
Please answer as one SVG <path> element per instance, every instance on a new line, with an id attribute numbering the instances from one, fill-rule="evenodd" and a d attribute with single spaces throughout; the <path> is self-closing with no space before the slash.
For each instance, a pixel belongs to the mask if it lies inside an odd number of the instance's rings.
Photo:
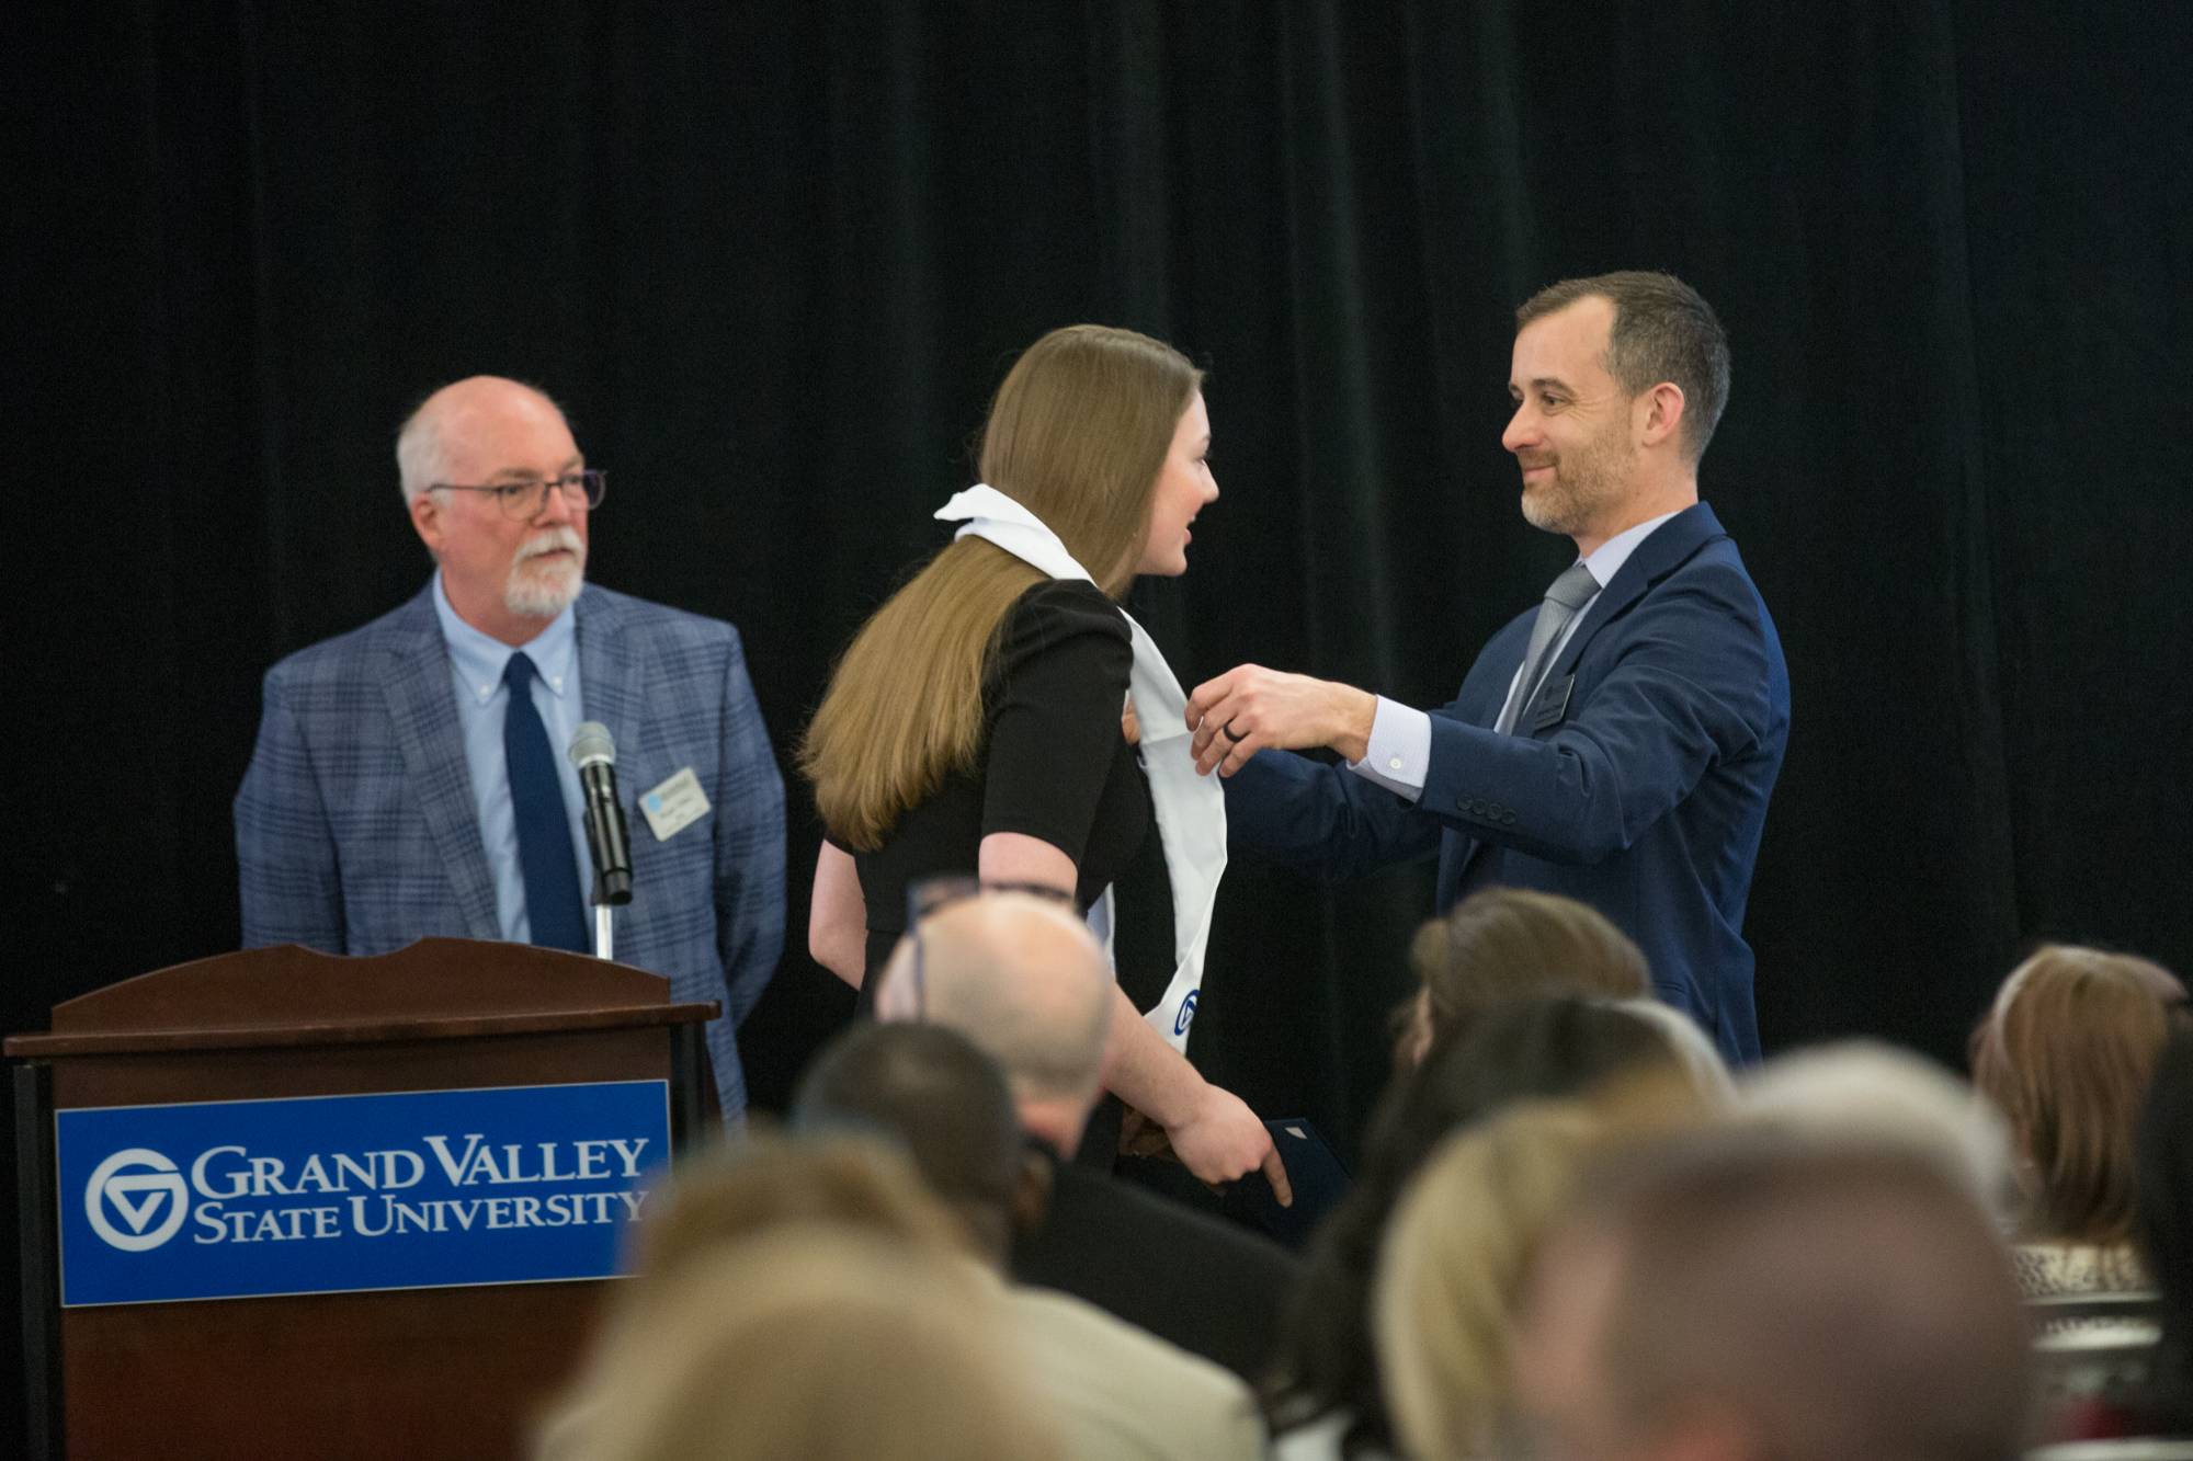
<path id="1" fill-rule="evenodd" d="M 1338 873 L 1436 851 L 1441 910 L 1491 884 L 1599 908 L 1645 950 L 1660 998 L 1750 1062 L 1743 904 L 1789 673 L 1697 500 L 1728 340 L 1695 290 L 1645 272 L 1557 283 L 1515 325 L 1500 441 L 1524 520 L 1572 537 L 1577 566 L 1432 713 L 1257 665 L 1200 684 L 1197 766 L 1228 777 L 1246 849 Z M 1307 746 L 1347 766 L 1283 755 Z"/>

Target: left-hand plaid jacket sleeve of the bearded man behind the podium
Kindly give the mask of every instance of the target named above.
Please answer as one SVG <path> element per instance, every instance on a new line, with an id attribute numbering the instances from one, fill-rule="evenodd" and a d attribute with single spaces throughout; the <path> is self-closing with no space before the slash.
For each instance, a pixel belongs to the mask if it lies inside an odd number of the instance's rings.
<path id="1" fill-rule="evenodd" d="M 265 678 L 259 744 L 237 788 L 235 818 L 243 948 L 346 952 L 336 836 L 279 667 Z"/>

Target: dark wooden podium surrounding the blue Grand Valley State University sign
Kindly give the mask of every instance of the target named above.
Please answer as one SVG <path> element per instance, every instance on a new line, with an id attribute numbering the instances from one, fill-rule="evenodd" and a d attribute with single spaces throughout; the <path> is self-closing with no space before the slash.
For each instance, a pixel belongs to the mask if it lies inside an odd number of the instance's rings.
<path id="1" fill-rule="evenodd" d="M 55 1005 L 50 1033 L 4 1046 L 33 1454 L 520 1454 L 603 1294 L 537 1281 L 61 1307 L 57 1222 L 83 1198 L 55 1191 L 57 1112 L 669 1081 L 678 1147 L 702 1123 L 711 1016 L 643 970 L 467 939 L 377 959 L 250 950 Z"/>

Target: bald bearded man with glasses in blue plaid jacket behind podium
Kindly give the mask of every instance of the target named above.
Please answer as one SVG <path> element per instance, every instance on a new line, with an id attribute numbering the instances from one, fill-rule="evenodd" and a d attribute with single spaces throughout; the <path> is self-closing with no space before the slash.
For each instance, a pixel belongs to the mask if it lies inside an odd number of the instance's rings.
<path id="1" fill-rule="evenodd" d="M 246 948 L 382 954 L 456 935 L 590 952 L 566 746 L 601 722 L 632 829 L 614 954 L 724 1007 L 706 1044 L 737 1121 L 732 1031 L 785 926 L 785 794 L 739 632 L 586 584 L 605 478 L 531 386 L 436 390 L 397 465 L 436 573 L 268 671 L 235 807 Z"/>

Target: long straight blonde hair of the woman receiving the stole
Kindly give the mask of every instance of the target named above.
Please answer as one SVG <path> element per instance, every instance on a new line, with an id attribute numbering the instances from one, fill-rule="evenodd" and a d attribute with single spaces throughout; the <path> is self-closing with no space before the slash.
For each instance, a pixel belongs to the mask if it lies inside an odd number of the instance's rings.
<path id="1" fill-rule="evenodd" d="M 1068 325 L 1013 364 L 982 423 L 982 480 L 1059 535 L 1118 599 L 1180 415 L 1202 384 L 1186 355 L 1132 329 Z M 1004 614 L 1044 575 L 980 537 L 932 557 L 846 647 L 800 741 L 829 834 L 875 851 L 982 748 L 982 673 Z"/>

